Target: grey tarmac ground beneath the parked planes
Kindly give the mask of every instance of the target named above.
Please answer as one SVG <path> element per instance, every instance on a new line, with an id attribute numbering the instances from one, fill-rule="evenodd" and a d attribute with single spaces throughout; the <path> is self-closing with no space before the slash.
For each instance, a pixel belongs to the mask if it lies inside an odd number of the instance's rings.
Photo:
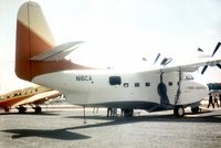
<path id="1" fill-rule="evenodd" d="M 186 112 L 183 118 L 172 110 L 107 118 L 105 108 L 86 108 L 84 124 L 76 106 L 49 106 L 39 115 L 12 110 L 0 114 L 0 148 L 220 148 L 221 108 Z"/>

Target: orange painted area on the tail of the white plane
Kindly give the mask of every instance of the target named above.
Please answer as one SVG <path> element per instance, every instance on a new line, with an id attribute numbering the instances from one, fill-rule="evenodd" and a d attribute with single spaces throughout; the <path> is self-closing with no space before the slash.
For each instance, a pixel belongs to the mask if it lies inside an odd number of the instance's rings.
<path id="1" fill-rule="evenodd" d="M 27 81 L 31 81 L 34 76 L 65 71 L 65 70 L 88 70 L 91 67 L 74 64 L 71 61 L 49 61 L 35 62 L 30 61 L 31 57 L 52 49 L 36 33 L 30 30 L 18 20 L 17 24 L 17 53 L 15 53 L 15 73 Z"/>

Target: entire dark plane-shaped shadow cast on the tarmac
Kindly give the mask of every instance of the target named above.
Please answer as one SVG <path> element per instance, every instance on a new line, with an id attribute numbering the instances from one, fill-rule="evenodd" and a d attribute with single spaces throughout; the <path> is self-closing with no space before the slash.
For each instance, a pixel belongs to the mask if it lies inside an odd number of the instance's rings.
<path id="1" fill-rule="evenodd" d="M 83 119 L 84 117 L 83 116 L 67 116 L 64 118 Z M 13 134 L 12 139 L 24 138 L 24 137 L 41 137 L 41 138 L 52 138 L 52 139 L 60 139 L 60 140 L 80 140 L 80 139 L 88 139 L 91 137 L 72 133 L 69 130 L 115 126 L 115 125 L 124 125 L 124 124 L 133 124 L 133 123 L 150 123 L 150 121 L 154 121 L 154 123 L 221 123 L 221 115 L 214 115 L 214 114 L 204 112 L 204 114 L 202 113 L 200 115 L 187 114 L 182 118 L 177 118 L 173 116 L 173 114 L 146 115 L 146 116 L 135 116 L 135 117 L 109 117 L 109 118 L 107 118 L 106 116 L 94 116 L 94 115 L 86 116 L 86 120 L 90 120 L 90 119 L 103 120 L 103 123 L 84 124 L 81 126 L 65 127 L 62 129 L 54 129 L 54 130 L 8 129 L 8 130 L 2 130 L 2 131 Z"/>

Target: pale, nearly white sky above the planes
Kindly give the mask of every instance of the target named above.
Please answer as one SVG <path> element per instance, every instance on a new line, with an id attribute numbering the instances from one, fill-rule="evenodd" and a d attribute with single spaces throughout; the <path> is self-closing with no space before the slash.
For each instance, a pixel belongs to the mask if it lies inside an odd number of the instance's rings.
<path id="1" fill-rule="evenodd" d="M 34 0 L 43 9 L 57 44 L 86 41 L 77 62 L 107 66 L 136 63 L 143 56 L 162 53 L 183 63 L 201 47 L 212 53 L 221 41 L 219 0 Z M 18 80 L 13 73 L 15 22 L 25 0 L 0 0 L 1 87 Z M 117 55 L 116 55 L 117 53 Z M 102 54 L 102 56 L 101 56 Z M 221 55 L 221 51 L 218 52 Z M 11 78 L 13 77 L 13 78 Z M 213 77 L 208 80 L 208 77 Z M 221 72 L 210 68 L 204 81 L 221 82 Z"/>

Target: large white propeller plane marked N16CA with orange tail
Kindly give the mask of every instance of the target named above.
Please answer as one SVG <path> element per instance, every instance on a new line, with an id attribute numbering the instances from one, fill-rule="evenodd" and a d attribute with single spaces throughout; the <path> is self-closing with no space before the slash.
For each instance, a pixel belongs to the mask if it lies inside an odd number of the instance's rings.
<path id="1" fill-rule="evenodd" d="M 208 66 L 221 63 L 220 59 L 210 57 L 185 65 L 162 64 L 135 71 L 96 68 L 66 59 L 83 43 L 55 45 L 41 7 L 25 2 L 18 11 L 15 74 L 57 89 L 70 103 L 83 107 L 122 108 L 125 116 L 133 116 L 134 109 L 173 109 L 175 116 L 182 117 L 186 107 L 198 112 L 200 102 L 209 94 L 208 86 L 197 82 L 191 73 L 200 66 L 204 66 L 204 73 Z"/>

